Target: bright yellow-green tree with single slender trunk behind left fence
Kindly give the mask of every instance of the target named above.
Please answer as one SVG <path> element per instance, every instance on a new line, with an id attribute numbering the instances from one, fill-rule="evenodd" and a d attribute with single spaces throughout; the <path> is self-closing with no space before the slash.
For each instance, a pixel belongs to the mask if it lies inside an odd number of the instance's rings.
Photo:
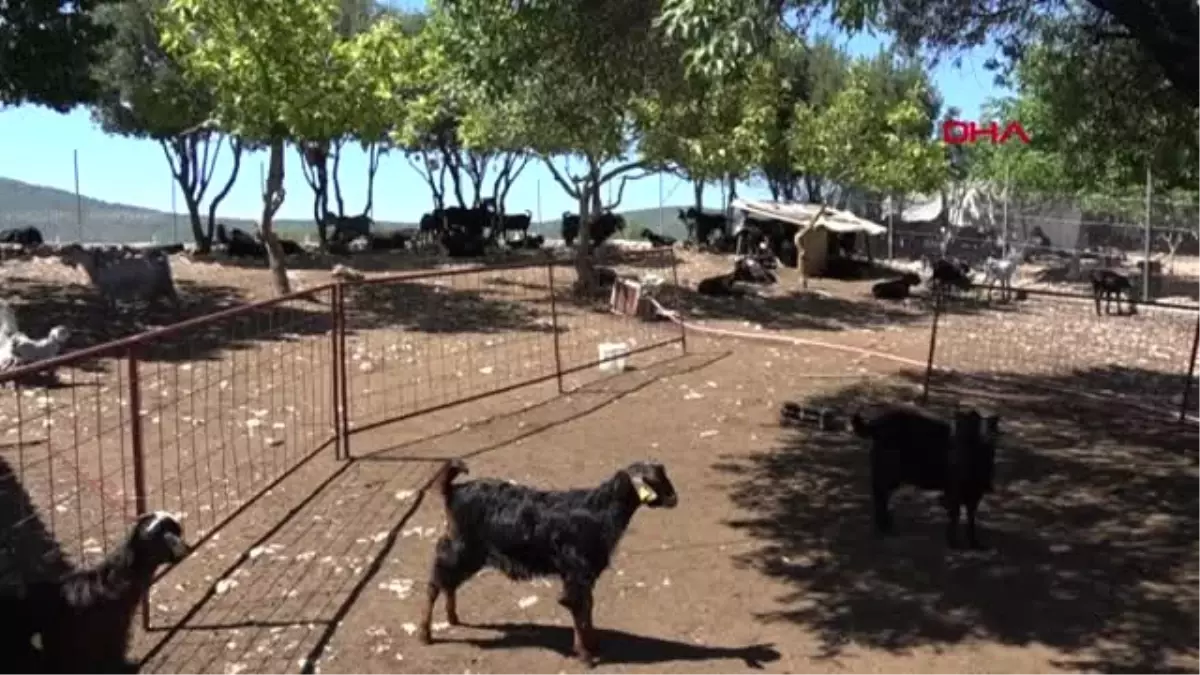
<path id="1" fill-rule="evenodd" d="M 170 0 L 160 14 L 168 54 L 212 91 L 214 125 L 269 149 L 258 227 L 280 293 L 289 283 L 272 225 L 287 142 L 334 137 L 346 102 L 373 109 L 403 100 L 408 42 L 397 22 L 346 38 L 338 12 L 336 0 Z"/>

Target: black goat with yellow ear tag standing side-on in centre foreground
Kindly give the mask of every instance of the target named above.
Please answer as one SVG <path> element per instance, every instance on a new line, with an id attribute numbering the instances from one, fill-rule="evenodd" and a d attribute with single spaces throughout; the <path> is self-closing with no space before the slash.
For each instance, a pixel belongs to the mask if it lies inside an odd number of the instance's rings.
<path id="1" fill-rule="evenodd" d="M 661 464 L 636 462 L 590 490 L 535 490 L 508 480 L 454 484 L 467 466 L 450 460 L 434 479 L 446 516 L 438 539 L 425 613 L 418 628 L 431 641 L 438 595 L 446 596 L 446 621 L 456 626 L 455 593 L 484 567 L 509 579 L 559 577 L 558 603 L 570 610 L 575 653 L 594 661 L 592 590 L 641 506 L 673 508 L 679 497 Z"/>

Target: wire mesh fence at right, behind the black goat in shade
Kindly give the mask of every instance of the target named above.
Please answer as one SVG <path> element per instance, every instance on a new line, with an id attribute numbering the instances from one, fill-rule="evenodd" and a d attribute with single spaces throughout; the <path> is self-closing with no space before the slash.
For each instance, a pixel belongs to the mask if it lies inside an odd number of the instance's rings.
<path id="1" fill-rule="evenodd" d="M 1200 311 L 1169 304 L 1109 304 L 1091 295 L 1024 291 L 1013 303 L 941 298 L 926 392 L 970 381 L 980 390 L 1058 392 L 1186 416 Z"/>

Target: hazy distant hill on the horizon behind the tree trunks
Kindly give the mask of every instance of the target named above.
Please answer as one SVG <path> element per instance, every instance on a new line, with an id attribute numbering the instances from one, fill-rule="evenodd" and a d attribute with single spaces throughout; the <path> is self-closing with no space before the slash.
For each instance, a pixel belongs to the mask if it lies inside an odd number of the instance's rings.
<path id="1" fill-rule="evenodd" d="M 661 211 L 661 229 L 665 234 L 683 239 L 686 231 L 678 220 L 678 208 L 620 211 L 629 223 L 625 237 L 637 238 L 642 228 L 659 232 Z M 246 219 L 222 217 L 221 222 L 246 231 L 254 227 L 254 222 Z M 0 178 L 0 229 L 28 226 L 38 228 L 49 241 L 78 241 L 80 234 L 84 241 L 106 244 L 191 241 L 187 214 L 181 213 L 176 217 L 166 211 L 91 197 L 76 199 L 74 193 L 66 190 Z M 377 226 L 380 229 L 408 229 L 415 228 L 416 223 L 379 221 Z M 276 229 L 298 239 L 316 235 L 311 220 L 277 220 Z M 560 222 L 557 219 L 547 220 L 535 223 L 533 229 L 557 238 Z"/>

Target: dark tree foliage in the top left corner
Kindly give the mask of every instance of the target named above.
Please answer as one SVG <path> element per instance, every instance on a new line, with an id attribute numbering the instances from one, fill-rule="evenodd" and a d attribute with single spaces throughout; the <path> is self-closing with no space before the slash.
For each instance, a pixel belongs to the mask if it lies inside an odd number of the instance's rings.
<path id="1" fill-rule="evenodd" d="M 66 112 L 90 102 L 96 50 L 108 30 L 94 20 L 108 0 L 0 2 L 0 108 L 34 103 Z"/>

